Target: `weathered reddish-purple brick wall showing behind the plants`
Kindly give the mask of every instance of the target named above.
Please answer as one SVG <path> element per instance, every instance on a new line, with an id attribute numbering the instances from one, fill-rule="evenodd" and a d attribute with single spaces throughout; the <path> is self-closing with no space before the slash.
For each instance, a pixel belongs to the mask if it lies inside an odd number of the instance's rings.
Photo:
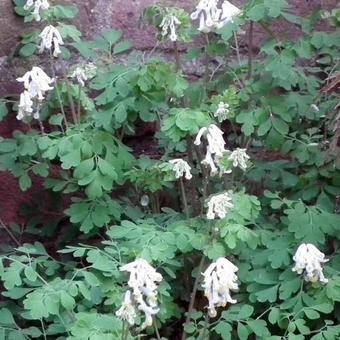
<path id="1" fill-rule="evenodd" d="M 92 38 L 109 28 L 121 29 L 125 38 L 133 40 L 136 49 L 150 50 L 154 47 L 154 31 L 140 28 L 139 17 L 145 7 L 156 2 L 186 8 L 191 11 L 196 0 L 60 0 L 51 3 L 73 3 L 79 8 L 79 16 L 75 24 L 86 37 Z M 242 7 L 246 0 L 234 0 L 233 4 Z M 308 15 L 317 8 L 331 9 L 336 7 L 337 0 L 291 0 L 292 12 L 297 15 Z M 16 77 L 31 67 L 31 61 L 22 59 L 7 60 L 19 42 L 20 34 L 28 33 L 31 24 L 24 24 L 22 18 L 13 12 L 10 0 L 0 0 L 0 97 L 18 94 L 20 88 Z M 299 37 L 299 30 L 294 25 L 277 24 L 274 28 L 280 37 Z M 258 46 L 266 38 L 260 27 L 255 27 L 255 43 Z M 241 43 L 242 44 L 242 43 Z M 160 48 L 161 49 L 161 48 Z M 0 123 L 0 136 L 10 137 L 12 132 L 20 128 L 14 117 Z M 22 193 L 17 180 L 7 173 L 0 173 L 0 216 L 8 224 L 20 222 L 19 206 L 27 202 L 42 202 L 46 199 L 41 185 L 37 183 L 32 190 Z M 1 241 L 1 232 L 0 232 Z"/>

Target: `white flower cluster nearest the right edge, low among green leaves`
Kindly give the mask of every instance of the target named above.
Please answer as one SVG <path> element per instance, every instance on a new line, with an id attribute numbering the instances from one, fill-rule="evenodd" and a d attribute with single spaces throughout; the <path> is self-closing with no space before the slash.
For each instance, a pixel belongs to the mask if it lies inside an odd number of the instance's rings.
<path id="1" fill-rule="evenodd" d="M 323 254 L 313 244 L 302 243 L 297 249 L 293 260 L 295 261 L 295 266 L 292 269 L 293 272 L 297 272 L 298 274 L 304 273 L 305 281 L 320 281 L 322 283 L 328 282 L 323 275 L 321 266 L 322 263 L 325 263 L 328 260 L 325 259 L 325 254 Z"/>

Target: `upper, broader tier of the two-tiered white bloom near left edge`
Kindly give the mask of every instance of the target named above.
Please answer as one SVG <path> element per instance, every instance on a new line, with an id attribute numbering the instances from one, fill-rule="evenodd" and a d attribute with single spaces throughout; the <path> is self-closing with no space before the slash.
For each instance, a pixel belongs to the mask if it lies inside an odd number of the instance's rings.
<path id="1" fill-rule="evenodd" d="M 31 99 L 44 99 L 45 92 L 53 90 L 50 86 L 53 79 L 50 78 L 40 67 L 34 66 L 31 71 L 26 72 L 24 76 L 17 78 L 18 82 L 23 82 L 25 89 L 28 91 Z"/>

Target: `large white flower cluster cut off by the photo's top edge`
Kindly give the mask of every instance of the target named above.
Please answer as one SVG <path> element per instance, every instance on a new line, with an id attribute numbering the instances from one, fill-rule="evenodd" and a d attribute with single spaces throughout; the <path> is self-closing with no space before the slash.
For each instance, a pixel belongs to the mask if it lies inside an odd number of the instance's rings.
<path id="1" fill-rule="evenodd" d="M 191 14 L 191 19 L 199 19 L 201 32 L 209 33 L 215 29 L 222 28 L 233 18 L 240 14 L 240 9 L 224 0 L 219 8 L 219 0 L 200 0 L 196 10 Z"/>

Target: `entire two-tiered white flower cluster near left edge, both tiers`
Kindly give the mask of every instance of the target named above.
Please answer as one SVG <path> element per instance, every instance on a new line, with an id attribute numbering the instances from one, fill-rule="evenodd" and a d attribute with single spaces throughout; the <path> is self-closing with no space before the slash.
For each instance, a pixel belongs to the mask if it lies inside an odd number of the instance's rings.
<path id="1" fill-rule="evenodd" d="M 22 120 L 26 116 L 32 116 L 34 100 L 41 102 L 47 91 L 52 90 L 51 84 L 54 79 L 50 78 L 40 67 L 34 66 L 31 71 L 17 78 L 18 82 L 24 83 L 25 90 L 20 95 L 17 119 Z M 39 108 L 39 105 L 37 105 Z M 33 117 L 39 119 L 37 110 Z"/>

